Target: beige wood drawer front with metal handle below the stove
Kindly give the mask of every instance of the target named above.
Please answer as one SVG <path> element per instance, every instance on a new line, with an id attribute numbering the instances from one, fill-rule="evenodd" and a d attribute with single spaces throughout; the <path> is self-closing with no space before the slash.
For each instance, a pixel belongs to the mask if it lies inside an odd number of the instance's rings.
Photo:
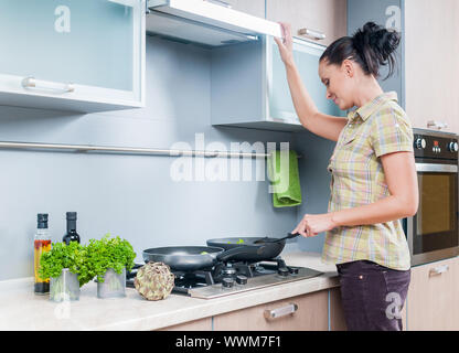
<path id="1" fill-rule="evenodd" d="M 298 310 L 277 319 L 265 319 L 265 310 L 286 308 L 290 303 Z M 214 318 L 214 330 L 237 331 L 302 331 L 328 330 L 328 291 L 319 291 L 253 308 L 242 309 Z"/>

